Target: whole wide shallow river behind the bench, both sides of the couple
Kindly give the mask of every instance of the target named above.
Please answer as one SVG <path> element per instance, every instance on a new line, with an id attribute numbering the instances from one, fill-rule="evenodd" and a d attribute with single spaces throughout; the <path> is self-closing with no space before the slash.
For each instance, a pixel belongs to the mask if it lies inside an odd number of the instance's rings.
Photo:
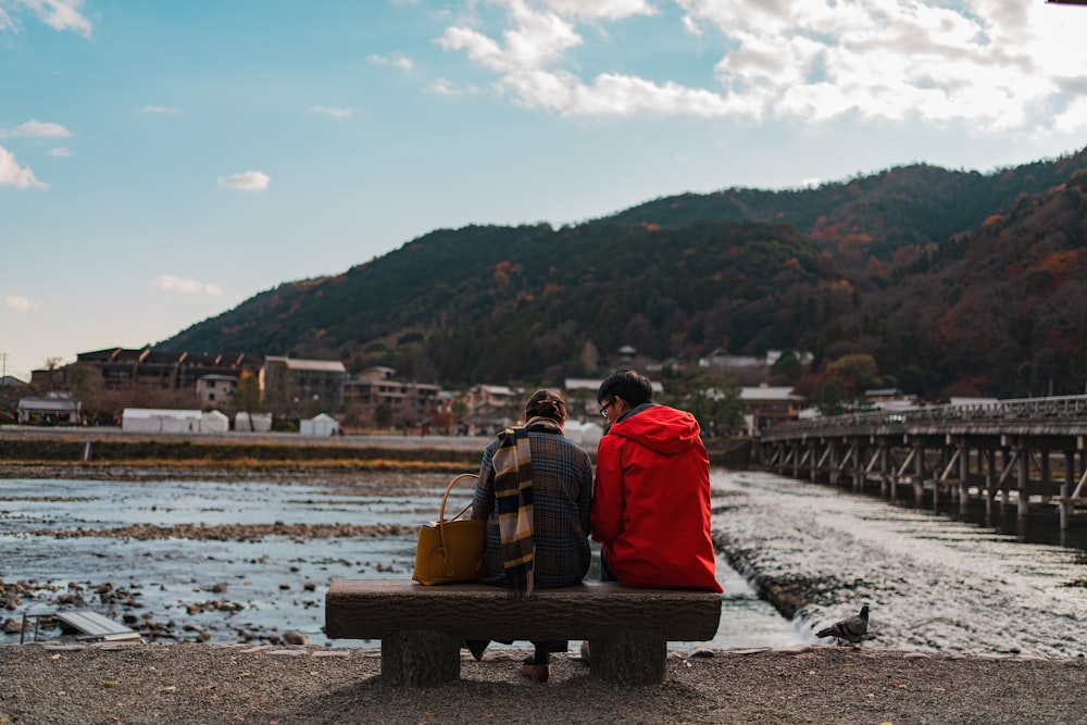
<path id="1" fill-rule="evenodd" d="M 434 517 L 446 479 L 373 473 L 349 483 L 0 480 L 0 578 L 35 583 L 5 613 L 8 628 L 28 607 L 74 595 L 134 628 L 153 623 L 159 639 L 275 642 L 295 632 L 328 643 L 328 585 L 338 577 L 409 577 L 412 532 Z M 1078 549 L 772 475 L 717 470 L 712 484 L 725 595 L 710 647 L 815 641 L 814 628 L 863 602 L 873 610 L 866 647 L 1062 655 L 1085 649 L 1087 570 Z M 468 495 L 457 491 L 450 505 Z M 271 524 L 399 533 L 254 534 Z M 162 535 L 100 535 L 147 527 Z M 183 529 L 186 538 L 177 535 Z M 753 574 L 804 582 L 809 605 L 783 617 L 748 584 Z M 1023 623 L 1028 632 L 1020 632 Z M 17 642 L 17 630 L 0 641 Z"/>

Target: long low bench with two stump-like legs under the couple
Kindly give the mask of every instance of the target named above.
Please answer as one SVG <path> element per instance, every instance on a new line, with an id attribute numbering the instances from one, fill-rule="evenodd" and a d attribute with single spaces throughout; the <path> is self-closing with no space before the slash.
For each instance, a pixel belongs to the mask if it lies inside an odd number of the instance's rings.
<path id="1" fill-rule="evenodd" d="M 589 675 L 617 685 L 663 682 L 670 641 L 712 639 L 721 595 L 589 582 L 512 601 L 502 587 L 337 579 L 325 596 L 329 639 L 380 639 L 382 677 L 398 686 L 460 678 L 468 639 L 589 642 Z"/>

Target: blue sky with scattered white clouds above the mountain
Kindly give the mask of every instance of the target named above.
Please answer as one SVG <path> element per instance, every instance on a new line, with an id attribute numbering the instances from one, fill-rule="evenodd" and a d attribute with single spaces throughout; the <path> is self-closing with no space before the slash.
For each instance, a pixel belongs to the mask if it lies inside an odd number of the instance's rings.
<path id="1" fill-rule="evenodd" d="M 1044 0 L 0 0 L 0 374 L 434 229 L 1073 153 L 1084 37 Z"/>

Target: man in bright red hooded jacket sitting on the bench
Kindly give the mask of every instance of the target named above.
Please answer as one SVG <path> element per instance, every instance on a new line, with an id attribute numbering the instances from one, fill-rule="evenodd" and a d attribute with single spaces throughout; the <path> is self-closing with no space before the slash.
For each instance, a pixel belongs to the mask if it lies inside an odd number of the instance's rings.
<path id="1" fill-rule="evenodd" d="M 632 370 L 609 375 L 597 401 L 610 424 L 597 448 L 590 513 L 601 577 L 722 591 L 710 539 L 710 459 L 695 416 L 654 403 L 649 378 Z"/>

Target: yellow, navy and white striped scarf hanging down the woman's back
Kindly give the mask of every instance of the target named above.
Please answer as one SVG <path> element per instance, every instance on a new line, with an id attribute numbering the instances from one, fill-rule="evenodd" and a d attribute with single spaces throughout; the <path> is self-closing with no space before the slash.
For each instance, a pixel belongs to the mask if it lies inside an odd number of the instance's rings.
<path id="1" fill-rule="evenodd" d="M 558 423 L 534 417 L 525 425 L 514 425 L 498 434 L 495 451 L 495 497 L 498 508 L 498 533 L 502 539 L 502 559 L 510 597 L 522 599 L 533 593 L 533 451 L 527 426 L 562 432 Z"/>

